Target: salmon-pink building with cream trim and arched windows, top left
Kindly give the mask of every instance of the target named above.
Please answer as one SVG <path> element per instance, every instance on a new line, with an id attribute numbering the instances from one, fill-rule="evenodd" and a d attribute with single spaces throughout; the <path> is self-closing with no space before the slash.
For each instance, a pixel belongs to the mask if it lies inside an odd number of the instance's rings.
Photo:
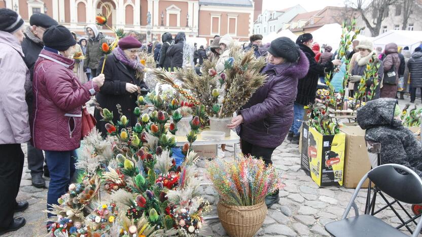
<path id="1" fill-rule="evenodd" d="M 95 24 L 95 16 L 109 5 L 113 9 L 110 26 L 144 34 L 147 41 L 161 39 L 164 32 L 175 35 L 183 31 L 209 42 L 215 34 L 247 38 L 253 31 L 255 12 L 261 11 L 255 9 L 255 3 L 262 7 L 262 0 L 2 0 L 0 7 L 17 11 L 27 24 L 32 14 L 46 13 L 85 35 L 86 25 Z M 113 35 L 106 27 L 100 31 Z"/>

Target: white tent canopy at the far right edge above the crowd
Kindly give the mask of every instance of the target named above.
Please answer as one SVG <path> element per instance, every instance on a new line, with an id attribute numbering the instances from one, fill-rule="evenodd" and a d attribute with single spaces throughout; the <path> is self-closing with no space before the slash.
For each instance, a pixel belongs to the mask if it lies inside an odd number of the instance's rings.
<path id="1" fill-rule="evenodd" d="M 374 46 L 384 49 L 386 44 L 396 43 L 402 48 L 408 46 L 412 52 L 422 41 L 422 31 L 420 30 L 390 30 L 374 38 Z"/>

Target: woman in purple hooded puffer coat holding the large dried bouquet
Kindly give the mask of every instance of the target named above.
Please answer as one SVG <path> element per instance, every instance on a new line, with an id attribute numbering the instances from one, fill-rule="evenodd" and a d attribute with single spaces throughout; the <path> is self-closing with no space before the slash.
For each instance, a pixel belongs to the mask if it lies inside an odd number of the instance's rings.
<path id="1" fill-rule="evenodd" d="M 283 143 L 293 123 L 298 80 L 308 69 L 308 59 L 290 38 L 279 37 L 271 42 L 267 65 L 261 71 L 267 75 L 264 85 L 228 125 L 240 125 L 243 154 L 262 157 L 265 164 L 272 164 L 272 152 Z M 267 196 L 265 203 L 270 207 L 278 200 L 277 191 Z"/>

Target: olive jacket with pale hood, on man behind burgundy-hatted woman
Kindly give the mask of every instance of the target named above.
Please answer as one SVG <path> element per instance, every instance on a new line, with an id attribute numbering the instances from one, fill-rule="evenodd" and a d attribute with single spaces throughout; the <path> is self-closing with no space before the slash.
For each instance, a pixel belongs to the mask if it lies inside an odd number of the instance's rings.
<path id="1" fill-rule="evenodd" d="M 91 28 L 92 31 L 94 31 L 94 38 L 89 37 L 88 28 Z M 101 45 L 102 43 L 107 43 L 107 39 L 102 33 L 98 32 L 97 26 L 94 24 L 88 25 L 85 30 L 88 35 L 88 42 L 86 43 L 84 67 L 96 69 L 98 67 L 99 59 L 104 56 L 101 51 Z M 96 75 L 92 76 L 95 77 Z"/>

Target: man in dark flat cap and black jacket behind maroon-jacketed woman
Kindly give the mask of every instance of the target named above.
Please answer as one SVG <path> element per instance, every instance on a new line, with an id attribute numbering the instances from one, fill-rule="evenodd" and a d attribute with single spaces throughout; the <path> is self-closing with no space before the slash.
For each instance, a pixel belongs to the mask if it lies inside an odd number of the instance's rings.
<path id="1" fill-rule="evenodd" d="M 38 59 L 38 55 L 44 47 L 43 35 L 44 31 L 53 25 L 58 25 L 57 21 L 47 16 L 46 14 L 36 13 L 29 18 L 30 26 L 25 28 L 25 38 L 22 42 L 22 51 L 25 54 L 26 66 L 29 69 L 30 78 L 32 82 L 33 66 Z M 26 95 L 26 104 L 28 105 L 29 116 L 32 116 L 32 90 Z M 30 121 L 30 120 L 29 120 Z M 32 185 L 35 187 L 44 187 L 46 182 L 43 179 L 43 164 L 44 154 L 42 150 L 36 149 L 27 143 L 27 155 L 28 155 L 28 169 L 31 171 Z M 47 163 L 44 166 L 44 175 L 49 177 Z"/>

